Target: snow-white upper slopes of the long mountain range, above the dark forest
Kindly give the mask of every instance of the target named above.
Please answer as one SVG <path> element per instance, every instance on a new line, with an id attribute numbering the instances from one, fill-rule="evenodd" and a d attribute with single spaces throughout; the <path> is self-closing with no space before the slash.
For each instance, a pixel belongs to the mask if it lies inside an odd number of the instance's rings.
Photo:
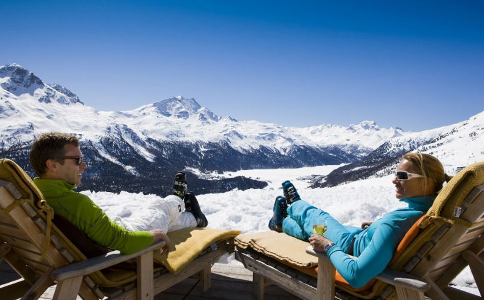
<path id="1" fill-rule="evenodd" d="M 139 144 L 149 139 L 227 142 L 238 151 L 252 151 L 262 146 L 283 154 L 294 145 L 337 146 L 361 156 L 404 134 L 401 129 L 380 128 L 372 121 L 349 127 L 322 124 L 308 128 L 237 121 L 229 116 L 218 117 L 195 99 L 182 96 L 131 111 L 97 112 L 67 88 L 45 84 L 16 64 L 0 67 L 0 86 L 0 134 L 3 134 L 0 145 L 4 147 L 44 131 L 74 132 L 90 140 L 115 131 L 120 134 L 128 131 L 133 138 L 136 135 Z M 152 158 L 141 149 L 140 154 L 149 160 Z"/>

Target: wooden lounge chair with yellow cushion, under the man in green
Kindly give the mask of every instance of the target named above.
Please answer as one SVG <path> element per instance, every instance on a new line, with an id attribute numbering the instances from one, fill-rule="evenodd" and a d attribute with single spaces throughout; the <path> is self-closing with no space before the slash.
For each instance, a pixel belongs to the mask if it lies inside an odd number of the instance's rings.
<path id="1" fill-rule="evenodd" d="M 0 160 L 0 260 L 5 259 L 22 279 L 0 288 L 2 300 L 37 299 L 57 283 L 54 299 L 153 299 L 153 296 L 187 277 L 198 276 L 203 291 L 210 287 L 210 267 L 233 252 L 235 231 L 211 229 L 170 233 L 175 249 L 169 266 L 153 264 L 158 242 L 142 251 L 122 255 L 113 251 L 87 259 L 51 223 L 53 212 L 41 193 L 14 162 Z M 201 236 L 211 235 L 202 246 Z M 173 245 L 172 245 L 173 247 Z M 205 248 L 190 262 L 184 249 Z M 156 254 L 155 254 L 156 256 Z M 121 262 L 136 261 L 136 269 L 123 269 Z M 173 263 L 171 265 L 170 263 Z M 117 266 L 116 266 L 117 265 Z M 174 268 L 175 273 L 168 269 Z"/>

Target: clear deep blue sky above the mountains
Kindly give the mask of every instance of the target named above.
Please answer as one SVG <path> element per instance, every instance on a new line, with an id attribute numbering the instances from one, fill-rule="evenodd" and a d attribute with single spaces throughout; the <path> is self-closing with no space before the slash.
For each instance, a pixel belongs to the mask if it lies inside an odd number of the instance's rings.
<path id="1" fill-rule="evenodd" d="M 484 110 L 482 1 L 2 1 L 0 65 L 97 110 L 176 95 L 285 126 Z"/>

